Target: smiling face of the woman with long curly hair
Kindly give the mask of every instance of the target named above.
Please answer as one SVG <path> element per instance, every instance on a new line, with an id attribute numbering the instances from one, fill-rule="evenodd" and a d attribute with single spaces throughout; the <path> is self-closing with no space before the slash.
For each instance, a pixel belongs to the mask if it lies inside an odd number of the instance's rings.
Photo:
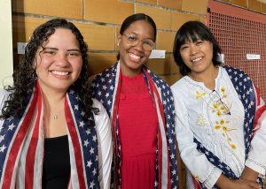
<path id="1" fill-rule="evenodd" d="M 42 90 L 66 93 L 82 71 L 79 42 L 69 29 L 57 28 L 36 52 L 35 72 Z"/>

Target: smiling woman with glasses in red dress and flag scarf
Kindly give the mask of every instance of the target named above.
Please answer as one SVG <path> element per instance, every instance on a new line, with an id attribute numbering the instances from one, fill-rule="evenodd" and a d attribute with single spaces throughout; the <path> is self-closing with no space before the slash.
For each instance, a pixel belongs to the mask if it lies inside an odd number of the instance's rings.
<path id="1" fill-rule="evenodd" d="M 143 13 L 131 15 L 117 39 L 118 62 L 92 84 L 113 124 L 114 185 L 177 187 L 172 94 L 144 65 L 155 47 L 155 23 Z"/>

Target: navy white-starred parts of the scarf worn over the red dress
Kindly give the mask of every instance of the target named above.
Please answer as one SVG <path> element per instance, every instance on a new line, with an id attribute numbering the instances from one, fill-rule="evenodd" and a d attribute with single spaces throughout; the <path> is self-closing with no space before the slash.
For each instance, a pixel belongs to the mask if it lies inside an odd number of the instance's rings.
<path id="1" fill-rule="evenodd" d="M 109 116 L 112 114 L 112 106 L 113 106 L 113 95 L 115 95 L 115 80 L 116 80 L 116 65 L 114 65 L 109 70 L 98 74 L 98 76 L 92 82 L 92 93 L 93 97 L 98 99 L 99 102 L 103 103 L 106 108 Z M 153 79 L 158 91 L 160 92 L 161 102 L 164 109 L 165 115 L 165 123 L 166 123 L 166 135 L 168 139 L 168 155 L 169 155 L 169 163 L 170 163 L 170 178 L 173 182 L 171 182 L 171 188 L 178 187 L 178 176 L 175 170 L 177 170 L 177 157 L 176 157 L 176 142 L 173 139 L 176 139 L 175 132 L 175 107 L 174 107 L 174 98 L 172 92 L 168 85 L 159 77 L 153 74 L 153 72 L 147 70 L 150 77 Z M 145 80 L 147 80 L 144 74 Z M 150 91 L 149 91 L 150 92 Z M 119 140 L 119 130 L 118 126 L 116 126 L 115 134 L 117 138 L 117 150 L 118 150 L 118 164 L 121 167 L 121 145 Z M 174 153 L 175 152 L 175 153 Z M 171 155 L 171 156 L 170 156 Z M 156 151 L 156 156 L 158 156 L 158 150 Z M 158 165 L 158 159 L 156 158 L 156 164 Z M 114 167 L 113 167 L 114 169 Z M 158 166 L 156 166 L 156 172 L 158 173 Z M 118 170 L 119 181 L 121 183 L 120 170 Z M 158 188 L 159 176 L 156 174 L 156 180 L 154 183 L 154 188 Z"/>

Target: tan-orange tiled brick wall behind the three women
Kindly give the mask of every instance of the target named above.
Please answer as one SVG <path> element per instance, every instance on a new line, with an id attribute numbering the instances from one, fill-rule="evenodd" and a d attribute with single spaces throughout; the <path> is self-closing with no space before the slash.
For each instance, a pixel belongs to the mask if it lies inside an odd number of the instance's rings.
<path id="1" fill-rule="evenodd" d="M 266 5 L 256 0 L 223 0 L 256 11 L 266 12 Z M 178 28 L 188 20 L 206 23 L 208 0 L 12 0 L 14 60 L 17 42 L 27 42 L 36 26 L 48 19 L 69 19 L 80 28 L 89 45 L 90 72 L 96 74 L 115 63 L 117 34 L 127 16 L 144 12 L 158 27 L 156 49 L 165 49 L 165 59 L 149 60 L 147 66 L 173 84 L 180 79 L 172 57 Z M 184 176 L 184 169 L 183 176 Z M 184 185 L 184 177 L 181 178 Z"/>

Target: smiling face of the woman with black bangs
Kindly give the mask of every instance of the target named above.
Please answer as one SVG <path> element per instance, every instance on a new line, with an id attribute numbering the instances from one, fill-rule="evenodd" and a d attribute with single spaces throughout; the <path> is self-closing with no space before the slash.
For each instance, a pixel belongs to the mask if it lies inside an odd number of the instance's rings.
<path id="1" fill-rule="evenodd" d="M 213 44 L 206 40 L 187 40 L 180 48 L 180 55 L 184 64 L 191 69 L 191 74 L 212 71 Z"/>

